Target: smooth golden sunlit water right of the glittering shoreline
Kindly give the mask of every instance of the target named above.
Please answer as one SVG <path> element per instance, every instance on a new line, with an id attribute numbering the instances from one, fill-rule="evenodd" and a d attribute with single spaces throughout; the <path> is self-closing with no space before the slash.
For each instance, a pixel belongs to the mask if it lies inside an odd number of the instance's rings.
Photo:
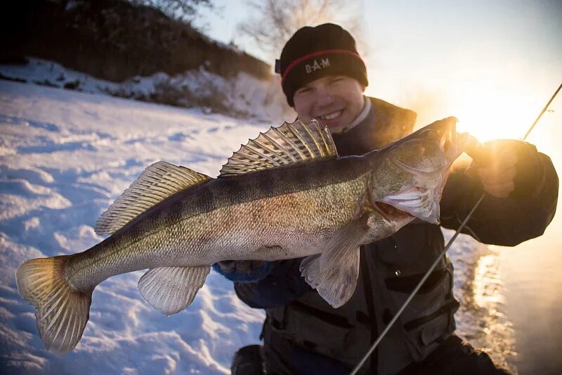
<path id="1" fill-rule="evenodd" d="M 507 317 L 519 374 L 562 374 L 562 220 L 516 248 L 502 248 Z"/>

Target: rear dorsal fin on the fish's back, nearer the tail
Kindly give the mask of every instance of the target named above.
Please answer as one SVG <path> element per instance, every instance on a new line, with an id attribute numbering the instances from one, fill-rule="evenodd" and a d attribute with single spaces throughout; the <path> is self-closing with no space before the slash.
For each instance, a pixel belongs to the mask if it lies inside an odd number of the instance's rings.
<path id="1" fill-rule="evenodd" d="M 210 178 L 189 168 L 164 161 L 154 163 L 103 212 L 96 223 L 96 233 L 113 234 L 156 203 Z"/>

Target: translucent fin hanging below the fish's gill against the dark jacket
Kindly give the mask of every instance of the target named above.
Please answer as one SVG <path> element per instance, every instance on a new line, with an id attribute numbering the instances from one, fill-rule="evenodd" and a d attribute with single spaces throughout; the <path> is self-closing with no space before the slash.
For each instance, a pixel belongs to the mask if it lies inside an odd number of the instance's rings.
<path id="1" fill-rule="evenodd" d="M 301 263 L 306 282 L 334 308 L 344 305 L 355 292 L 359 244 L 364 234 L 362 224 L 351 224 L 334 234 L 322 254 L 311 255 Z"/>

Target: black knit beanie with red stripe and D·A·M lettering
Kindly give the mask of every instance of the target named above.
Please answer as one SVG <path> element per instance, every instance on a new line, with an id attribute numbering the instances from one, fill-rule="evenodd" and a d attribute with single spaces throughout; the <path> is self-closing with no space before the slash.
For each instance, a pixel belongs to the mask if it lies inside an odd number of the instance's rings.
<path id="1" fill-rule="evenodd" d="M 297 30 L 275 61 L 275 72 L 281 75 L 283 92 L 292 107 L 296 90 L 327 75 L 346 75 L 365 87 L 369 84 L 355 39 L 333 23 Z"/>

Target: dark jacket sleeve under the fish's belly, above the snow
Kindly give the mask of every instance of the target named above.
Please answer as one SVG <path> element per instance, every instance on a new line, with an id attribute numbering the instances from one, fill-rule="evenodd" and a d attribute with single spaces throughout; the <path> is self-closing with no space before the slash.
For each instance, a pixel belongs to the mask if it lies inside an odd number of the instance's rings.
<path id="1" fill-rule="evenodd" d="M 271 308 L 296 300 L 311 291 L 311 286 L 301 277 L 299 266 L 303 258 L 280 260 L 263 279 L 249 282 L 235 282 L 238 298 L 254 308 Z"/>

